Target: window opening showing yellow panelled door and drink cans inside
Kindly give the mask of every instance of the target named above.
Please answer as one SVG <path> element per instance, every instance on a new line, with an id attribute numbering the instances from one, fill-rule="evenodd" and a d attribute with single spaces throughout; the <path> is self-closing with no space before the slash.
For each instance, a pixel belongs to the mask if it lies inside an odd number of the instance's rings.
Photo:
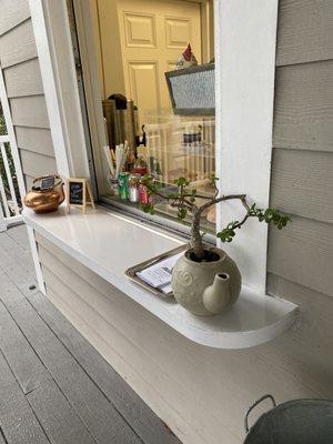
<path id="1" fill-rule="evenodd" d="M 162 194 L 176 191 L 180 176 L 190 190 L 213 194 L 213 2 L 108 0 L 90 6 L 109 145 L 98 148 L 100 200 L 137 213 L 148 199 L 140 183 L 145 173 Z M 117 145 L 125 141 L 125 161 L 118 171 L 122 151 Z M 172 204 L 152 199 L 160 221 L 176 221 Z M 203 219 L 202 228 L 213 233 L 215 209 Z M 190 221 L 191 214 L 185 225 Z"/>

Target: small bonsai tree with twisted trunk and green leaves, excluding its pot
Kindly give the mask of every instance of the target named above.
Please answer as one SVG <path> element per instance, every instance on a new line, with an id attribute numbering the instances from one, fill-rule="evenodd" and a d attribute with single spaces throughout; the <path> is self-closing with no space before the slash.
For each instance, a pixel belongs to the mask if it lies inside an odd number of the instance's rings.
<path id="1" fill-rule="evenodd" d="M 245 209 L 244 218 L 241 221 L 231 221 L 224 229 L 216 233 L 216 236 L 222 242 L 231 242 L 235 236 L 236 230 L 240 230 L 250 218 L 255 218 L 259 222 L 276 225 L 279 230 L 282 230 L 291 221 L 289 215 L 281 213 L 279 210 L 272 208 L 264 210 L 259 209 L 255 203 L 250 205 L 246 200 L 246 194 L 229 194 L 219 196 L 220 192 L 216 186 L 218 180 L 219 179 L 215 176 L 210 178 L 210 183 L 214 193 L 212 196 L 208 196 L 198 193 L 196 190 L 189 189 L 190 182 L 188 182 L 185 178 L 176 179 L 174 184 L 178 186 L 178 191 L 168 194 L 160 189 L 153 176 L 145 175 L 142 179 L 149 194 L 158 195 L 159 198 L 167 200 L 171 206 L 174 206 L 178 210 L 178 219 L 184 220 L 189 212 L 192 213 L 191 259 L 198 262 L 213 260 L 213 258 L 210 258 L 210 251 L 204 249 L 204 233 L 201 233 L 200 223 L 203 212 L 219 202 L 239 200 Z M 205 202 L 198 205 L 196 199 L 204 200 Z M 145 213 L 154 214 L 153 202 L 142 204 L 141 208 Z"/>

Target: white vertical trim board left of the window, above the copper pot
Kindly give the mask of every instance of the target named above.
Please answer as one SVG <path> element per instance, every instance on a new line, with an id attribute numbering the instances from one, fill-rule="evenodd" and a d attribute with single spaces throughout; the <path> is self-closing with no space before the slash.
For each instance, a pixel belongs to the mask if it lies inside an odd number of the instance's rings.
<path id="1" fill-rule="evenodd" d="M 29 0 L 58 173 L 89 178 L 65 0 Z"/>

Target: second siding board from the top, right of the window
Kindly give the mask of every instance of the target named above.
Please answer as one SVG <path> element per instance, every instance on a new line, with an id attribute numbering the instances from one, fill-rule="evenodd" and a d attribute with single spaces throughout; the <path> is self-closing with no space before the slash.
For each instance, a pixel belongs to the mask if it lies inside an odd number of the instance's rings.
<path id="1" fill-rule="evenodd" d="M 274 147 L 332 152 L 332 103 L 333 60 L 279 67 Z"/>

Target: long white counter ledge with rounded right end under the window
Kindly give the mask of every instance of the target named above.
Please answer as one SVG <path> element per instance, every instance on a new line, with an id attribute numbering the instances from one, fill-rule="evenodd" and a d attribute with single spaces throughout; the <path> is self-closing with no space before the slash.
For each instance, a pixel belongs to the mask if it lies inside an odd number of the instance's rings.
<path id="1" fill-rule="evenodd" d="M 279 297 L 256 294 L 243 286 L 228 312 L 194 316 L 174 300 L 162 299 L 131 282 L 128 268 L 167 252 L 182 242 L 104 209 L 82 214 L 64 208 L 49 214 L 23 211 L 24 222 L 37 232 L 118 287 L 183 336 L 210 347 L 244 349 L 284 333 L 294 322 L 297 306 Z"/>

